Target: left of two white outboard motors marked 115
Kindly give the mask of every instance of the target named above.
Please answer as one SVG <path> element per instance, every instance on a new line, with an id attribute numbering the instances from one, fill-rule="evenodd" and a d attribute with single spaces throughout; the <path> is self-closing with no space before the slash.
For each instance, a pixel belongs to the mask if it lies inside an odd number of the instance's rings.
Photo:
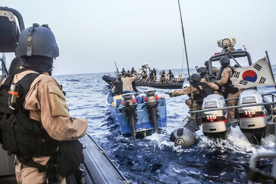
<path id="1" fill-rule="evenodd" d="M 204 98 L 202 110 L 226 107 L 224 97 L 219 94 L 210 94 Z M 215 110 L 201 113 L 202 131 L 205 136 L 212 138 L 226 138 L 229 130 L 227 110 Z"/>

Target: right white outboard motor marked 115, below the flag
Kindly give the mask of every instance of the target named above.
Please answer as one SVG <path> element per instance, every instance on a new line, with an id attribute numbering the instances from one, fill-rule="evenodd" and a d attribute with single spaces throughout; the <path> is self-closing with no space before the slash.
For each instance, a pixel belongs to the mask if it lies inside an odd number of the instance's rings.
<path id="1" fill-rule="evenodd" d="M 257 90 L 245 90 L 239 94 L 238 105 L 263 103 L 262 95 Z M 267 118 L 263 105 L 238 108 L 239 128 L 252 144 L 261 144 Z"/>

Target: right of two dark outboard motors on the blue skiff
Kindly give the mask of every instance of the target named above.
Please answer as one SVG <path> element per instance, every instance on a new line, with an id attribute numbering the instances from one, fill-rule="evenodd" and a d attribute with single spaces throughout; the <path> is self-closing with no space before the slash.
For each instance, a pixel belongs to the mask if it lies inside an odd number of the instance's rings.
<path id="1" fill-rule="evenodd" d="M 154 131 L 158 131 L 158 103 L 159 98 L 158 95 L 155 94 L 155 90 L 148 90 L 145 92 L 144 103 L 148 108 L 149 118 L 152 119 L 152 123 L 154 125 Z"/>

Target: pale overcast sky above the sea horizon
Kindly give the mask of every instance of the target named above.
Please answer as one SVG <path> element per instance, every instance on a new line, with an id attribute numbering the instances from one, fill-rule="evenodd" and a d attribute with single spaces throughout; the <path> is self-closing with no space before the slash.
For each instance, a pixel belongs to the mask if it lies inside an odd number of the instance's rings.
<path id="1" fill-rule="evenodd" d="M 48 24 L 60 56 L 53 75 L 181 68 L 184 42 L 177 0 L 1 0 L 25 27 Z M 267 50 L 276 64 L 276 0 L 180 0 L 190 67 L 202 66 L 236 37 L 255 62 Z M 14 54 L 6 55 L 7 65 Z M 187 67 L 184 60 L 184 67 Z"/>

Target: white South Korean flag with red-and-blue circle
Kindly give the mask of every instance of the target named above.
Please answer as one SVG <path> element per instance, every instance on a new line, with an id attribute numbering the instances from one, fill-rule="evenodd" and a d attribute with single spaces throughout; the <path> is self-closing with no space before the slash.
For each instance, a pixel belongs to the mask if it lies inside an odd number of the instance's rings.
<path id="1" fill-rule="evenodd" d="M 252 88 L 256 86 L 275 86 L 269 63 L 264 57 L 246 68 L 236 68 L 232 83 L 237 88 Z"/>

